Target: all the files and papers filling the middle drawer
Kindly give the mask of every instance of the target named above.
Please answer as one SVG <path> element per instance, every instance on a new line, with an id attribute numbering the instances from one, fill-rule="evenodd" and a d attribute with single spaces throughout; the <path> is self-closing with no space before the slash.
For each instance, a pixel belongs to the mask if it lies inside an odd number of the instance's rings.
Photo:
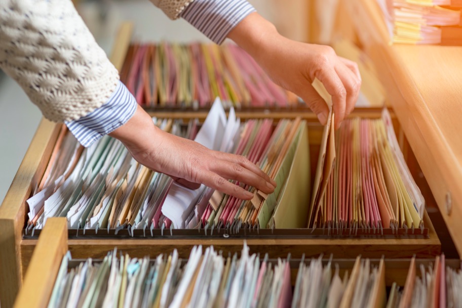
<path id="1" fill-rule="evenodd" d="M 43 179 L 27 200 L 27 232 L 49 217 L 69 229 L 226 230 L 322 228 L 369 233 L 422 228 L 425 200 L 413 181 L 386 109 L 381 119 L 348 119 L 324 127 L 311 190 L 307 123 L 300 118 L 241 123 L 217 99 L 202 125 L 153 121 L 170 133 L 213 150 L 247 157 L 277 183 L 272 194 L 234 181 L 253 194 L 240 200 L 200 186 L 191 190 L 138 164 L 121 142 L 104 137 L 83 149 L 61 131 Z M 380 233 L 380 232 L 377 232 Z"/>

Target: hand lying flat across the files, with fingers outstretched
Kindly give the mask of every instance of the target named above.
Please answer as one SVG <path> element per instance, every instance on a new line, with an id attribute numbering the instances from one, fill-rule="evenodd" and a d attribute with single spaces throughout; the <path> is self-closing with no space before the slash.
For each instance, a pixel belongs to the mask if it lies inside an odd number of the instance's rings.
<path id="1" fill-rule="evenodd" d="M 122 141 L 136 161 L 151 170 L 170 175 L 190 189 L 205 184 L 249 200 L 252 193 L 228 180 L 254 186 L 267 194 L 276 186 L 275 181 L 243 156 L 212 151 L 197 142 L 162 131 L 140 106 L 126 124 L 109 135 Z"/>

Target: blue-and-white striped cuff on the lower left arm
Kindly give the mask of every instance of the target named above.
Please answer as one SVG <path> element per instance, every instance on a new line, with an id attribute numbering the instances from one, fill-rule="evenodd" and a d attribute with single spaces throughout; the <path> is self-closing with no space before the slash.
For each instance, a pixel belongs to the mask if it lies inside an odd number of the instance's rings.
<path id="1" fill-rule="evenodd" d="M 89 147 L 101 137 L 124 125 L 135 113 L 137 103 L 127 87 L 119 81 L 112 95 L 101 107 L 78 120 L 66 121 L 72 135 Z"/>

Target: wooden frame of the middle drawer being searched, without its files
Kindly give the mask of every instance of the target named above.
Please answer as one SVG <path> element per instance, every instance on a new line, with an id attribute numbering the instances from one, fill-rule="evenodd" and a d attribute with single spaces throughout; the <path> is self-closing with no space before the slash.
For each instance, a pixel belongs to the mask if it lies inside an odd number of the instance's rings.
<path id="1" fill-rule="evenodd" d="M 117 48 L 112 54 L 112 62 L 120 69 L 125 56 L 126 48 L 131 37 L 131 25 L 122 26 Z M 154 115 L 154 114 L 153 114 Z M 206 113 L 178 113 L 160 112 L 155 114 L 160 117 L 169 118 L 205 118 Z M 322 127 L 317 122 L 316 116 L 308 111 L 289 110 L 285 112 L 263 111 L 263 112 L 238 112 L 241 119 L 248 118 L 295 118 L 301 116 L 309 122 L 310 151 L 312 157 L 317 157 L 322 134 Z M 358 109 L 352 116 L 377 118 L 380 116 L 378 109 Z M 415 157 L 404 138 L 403 131 L 396 117 L 392 114 L 397 136 L 401 140 L 401 147 L 406 160 L 411 168 L 414 178 L 418 178 L 420 168 L 415 162 Z M 0 288 L 0 299 L 2 307 L 11 307 L 14 295 L 21 285 L 22 276 L 27 269 L 37 239 L 23 237 L 23 228 L 26 223 L 26 203 L 35 185 L 45 171 L 50 160 L 54 144 L 57 140 L 61 124 L 51 123 L 42 120 L 37 132 L 30 144 L 23 162 L 16 174 L 15 179 L 7 193 L 7 196 L 0 207 L 0 281 L 9 281 L 8 285 L 2 284 Z M 316 159 L 312 159 L 312 168 L 316 169 Z M 435 203 L 431 192 L 425 191 L 425 179 L 422 182 L 422 193 L 427 197 L 427 204 L 432 207 Z M 433 206 L 435 207 L 435 206 Z M 230 238 L 220 237 L 199 237 L 199 236 L 163 236 L 155 238 L 120 238 L 120 237 L 96 237 L 70 236 L 67 241 L 68 248 L 75 258 L 101 258 L 108 250 L 114 247 L 128 252 L 131 256 L 141 257 L 143 255 L 156 255 L 159 253 L 171 252 L 177 249 L 180 256 L 187 257 L 190 248 L 194 245 L 213 245 L 216 249 L 227 252 L 240 251 L 247 238 L 247 244 L 251 252 L 260 251 L 270 253 L 270 257 L 285 257 L 290 253 L 293 257 L 315 256 L 320 253 L 333 253 L 337 258 L 354 258 L 358 254 L 364 257 L 379 258 L 383 254 L 388 258 L 404 258 L 416 255 L 420 258 L 433 257 L 441 252 L 441 243 L 435 232 L 435 228 L 429 219 L 428 214 L 424 216 L 426 234 L 407 235 L 363 235 L 332 237 L 323 234 L 309 234 L 306 230 L 297 232 L 287 231 L 284 235 L 267 236 L 231 236 Z M 72 233 L 71 233 L 72 235 Z"/>

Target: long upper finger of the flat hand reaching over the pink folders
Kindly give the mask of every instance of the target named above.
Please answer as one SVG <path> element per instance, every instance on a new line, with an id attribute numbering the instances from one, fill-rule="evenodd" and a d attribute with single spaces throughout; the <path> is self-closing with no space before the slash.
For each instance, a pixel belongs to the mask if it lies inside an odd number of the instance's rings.
<path id="1" fill-rule="evenodd" d="M 271 194 L 275 189 L 265 178 L 238 163 L 218 161 L 210 170 L 225 179 L 237 180 L 241 183 L 253 186 L 266 194 Z"/>

